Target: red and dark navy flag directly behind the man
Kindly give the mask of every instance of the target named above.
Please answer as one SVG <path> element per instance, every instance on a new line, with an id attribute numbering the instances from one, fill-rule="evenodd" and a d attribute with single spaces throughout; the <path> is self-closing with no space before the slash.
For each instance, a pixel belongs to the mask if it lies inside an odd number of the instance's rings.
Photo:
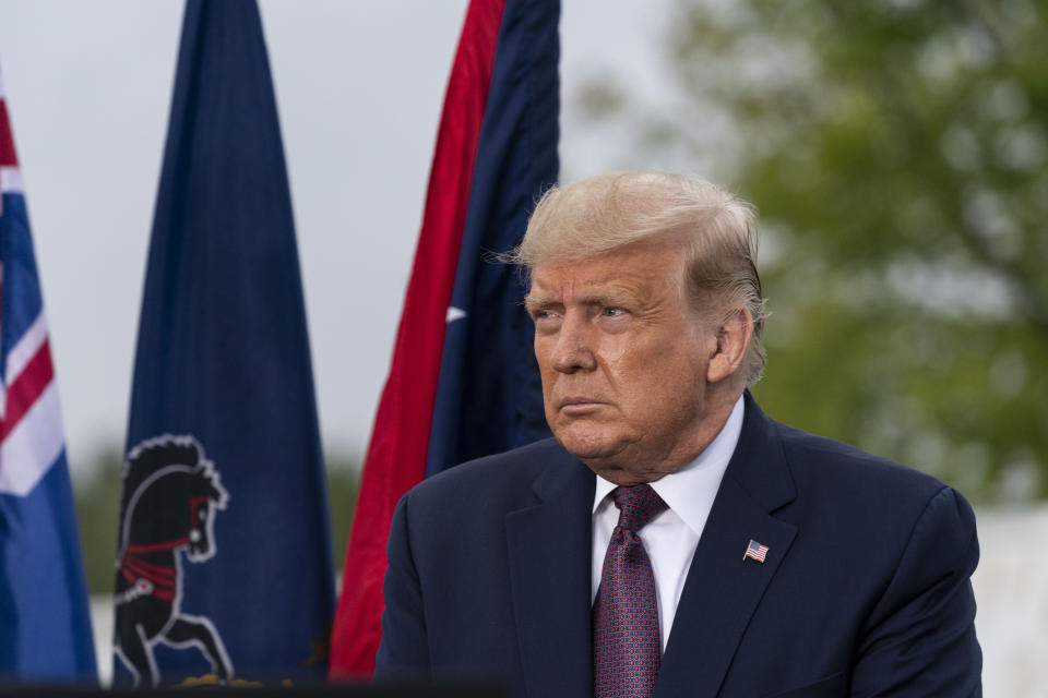
<path id="1" fill-rule="evenodd" d="M 495 263 L 558 170 L 558 0 L 472 0 L 379 404 L 332 633 L 332 676 L 368 675 L 393 508 L 462 460 L 547 436 L 524 280 Z"/>

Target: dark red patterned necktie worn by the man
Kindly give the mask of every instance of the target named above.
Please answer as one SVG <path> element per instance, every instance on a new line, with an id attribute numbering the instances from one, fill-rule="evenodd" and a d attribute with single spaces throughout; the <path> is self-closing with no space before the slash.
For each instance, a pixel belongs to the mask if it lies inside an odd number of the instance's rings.
<path id="1" fill-rule="evenodd" d="M 647 697 L 659 663 L 655 577 L 638 532 L 666 503 L 646 484 L 616 488 L 619 524 L 604 557 L 593 609 L 593 693 L 596 698 Z"/>

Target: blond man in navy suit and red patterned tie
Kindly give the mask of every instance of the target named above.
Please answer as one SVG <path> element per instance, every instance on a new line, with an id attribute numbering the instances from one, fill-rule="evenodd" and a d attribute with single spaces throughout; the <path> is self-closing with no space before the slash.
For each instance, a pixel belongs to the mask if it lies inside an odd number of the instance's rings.
<path id="1" fill-rule="evenodd" d="M 377 675 L 521 696 L 978 696 L 964 498 L 765 417 L 755 220 L 612 172 L 539 202 L 529 272 L 556 436 L 409 492 Z"/>

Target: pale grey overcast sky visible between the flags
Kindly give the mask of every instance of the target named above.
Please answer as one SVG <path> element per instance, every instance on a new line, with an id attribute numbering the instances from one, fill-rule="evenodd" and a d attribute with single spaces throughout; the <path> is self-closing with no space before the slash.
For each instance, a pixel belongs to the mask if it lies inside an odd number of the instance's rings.
<path id="1" fill-rule="evenodd" d="M 562 172 L 633 163 L 580 85 L 663 88 L 667 0 L 564 0 Z M 321 430 L 361 454 L 389 370 L 465 0 L 262 0 L 306 286 Z M 122 446 L 181 0 L 0 0 L 69 459 Z M 654 97 L 653 97 L 654 98 Z"/>

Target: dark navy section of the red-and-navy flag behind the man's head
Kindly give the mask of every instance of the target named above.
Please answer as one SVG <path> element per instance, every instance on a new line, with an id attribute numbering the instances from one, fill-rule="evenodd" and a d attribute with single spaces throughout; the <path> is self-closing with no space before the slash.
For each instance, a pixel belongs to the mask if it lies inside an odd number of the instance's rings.
<path id="1" fill-rule="evenodd" d="M 535 202 L 557 183 L 559 20 L 559 0 L 505 3 L 448 309 L 427 476 L 550 435 L 527 288 L 516 269 L 491 257 L 521 241 Z"/>

